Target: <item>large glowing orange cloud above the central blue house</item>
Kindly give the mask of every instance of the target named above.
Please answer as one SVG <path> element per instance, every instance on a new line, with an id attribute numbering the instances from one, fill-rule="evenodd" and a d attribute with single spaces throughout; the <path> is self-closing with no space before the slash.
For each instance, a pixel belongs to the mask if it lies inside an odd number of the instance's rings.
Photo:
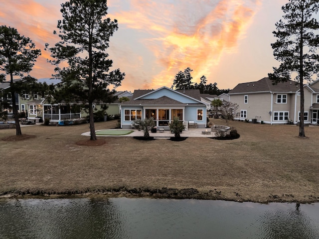
<path id="1" fill-rule="evenodd" d="M 193 82 L 214 71 L 221 57 L 236 46 L 258 11 L 260 1 L 209 0 L 165 1 L 131 0 L 129 11 L 112 15 L 127 28 L 148 34 L 143 44 L 156 57 L 158 73 L 144 88 L 170 86 L 178 71 L 193 69 Z M 247 2 L 247 1 L 246 1 Z"/>

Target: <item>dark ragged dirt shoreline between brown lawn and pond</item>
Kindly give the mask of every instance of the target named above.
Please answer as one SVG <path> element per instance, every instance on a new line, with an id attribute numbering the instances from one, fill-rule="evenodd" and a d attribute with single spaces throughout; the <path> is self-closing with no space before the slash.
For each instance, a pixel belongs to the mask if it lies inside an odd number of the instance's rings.
<path id="1" fill-rule="evenodd" d="M 2 192 L 0 199 L 2 198 L 82 198 L 82 197 L 99 197 L 99 198 L 154 198 L 154 199 L 196 199 L 196 200 L 223 200 L 223 201 L 234 201 L 234 202 L 252 202 L 252 203 L 299 203 L 299 204 L 311 204 L 318 203 L 319 198 L 313 197 L 312 195 L 305 196 L 305 199 L 295 199 L 294 195 L 269 195 L 266 200 L 264 198 L 247 199 L 243 198 L 238 193 L 234 192 L 234 196 L 224 196 L 221 191 L 210 190 L 208 192 L 199 192 L 194 188 L 161 188 L 161 189 L 142 189 L 133 188 L 128 189 L 125 187 L 113 188 L 113 189 L 95 189 L 95 190 L 73 190 L 64 192 L 54 192 L 45 190 L 26 190 L 26 191 L 12 191 Z"/>

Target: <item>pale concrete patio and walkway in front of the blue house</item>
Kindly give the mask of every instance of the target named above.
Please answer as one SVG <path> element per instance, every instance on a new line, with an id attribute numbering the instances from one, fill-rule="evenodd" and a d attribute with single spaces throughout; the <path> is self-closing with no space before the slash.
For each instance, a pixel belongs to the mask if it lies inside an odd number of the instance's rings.
<path id="1" fill-rule="evenodd" d="M 102 130 L 107 130 L 107 129 L 102 129 Z M 112 129 L 112 130 L 122 130 L 121 128 L 119 129 Z M 134 137 L 134 136 L 144 136 L 143 131 L 139 131 L 137 129 L 132 129 L 134 132 L 126 135 L 96 135 L 96 136 L 102 136 L 102 137 Z M 99 130 L 97 130 L 99 131 Z M 202 131 L 208 131 L 210 132 L 210 128 L 189 128 L 188 130 L 183 130 L 183 132 L 180 134 L 181 137 L 205 137 L 205 138 L 210 138 L 210 137 L 215 137 L 215 133 L 211 132 L 211 134 L 202 134 Z M 81 135 L 85 136 L 90 136 L 90 131 L 82 133 Z M 156 133 L 152 133 L 150 131 L 150 136 L 151 137 L 157 137 L 157 138 L 168 138 L 168 137 L 174 137 L 174 134 L 171 133 L 169 130 L 164 130 L 163 132 L 157 131 Z"/>

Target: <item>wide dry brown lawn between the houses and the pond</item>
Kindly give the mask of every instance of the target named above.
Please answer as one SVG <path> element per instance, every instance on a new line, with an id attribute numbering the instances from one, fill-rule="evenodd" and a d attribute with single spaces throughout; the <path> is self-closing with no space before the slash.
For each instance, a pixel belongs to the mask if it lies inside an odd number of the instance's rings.
<path id="1" fill-rule="evenodd" d="M 115 125 L 95 124 L 96 130 Z M 307 138 L 300 138 L 295 125 L 232 121 L 230 126 L 239 139 L 105 137 L 94 147 L 76 144 L 89 139 L 81 135 L 88 124 L 22 127 L 22 134 L 35 137 L 0 141 L 0 195 L 166 187 L 197 189 L 194 198 L 319 201 L 319 127 L 306 127 Z M 0 130 L 0 138 L 14 134 L 15 129 Z"/>

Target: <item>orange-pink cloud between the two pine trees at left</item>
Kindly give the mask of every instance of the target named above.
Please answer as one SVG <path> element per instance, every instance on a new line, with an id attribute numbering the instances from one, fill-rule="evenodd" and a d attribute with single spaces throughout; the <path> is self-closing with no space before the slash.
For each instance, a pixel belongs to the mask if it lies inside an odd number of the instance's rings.
<path id="1" fill-rule="evenodd" d="M 54 73 L 54 66 L 46 61 L 49 53 L 44 51 L 44 44 L 58 41 L 53 30 L 56 29 L 57 20 L 61 18 L 59 1 L 54 1 L 53 4 L 40 4 L 34 0 L 0 1 L 0 25 L 16 28 L 20 35 L 29 37 L 35 47 L 41 49 L 41 56 L 30 73 L 36 78 L 50 77 Z"/>

